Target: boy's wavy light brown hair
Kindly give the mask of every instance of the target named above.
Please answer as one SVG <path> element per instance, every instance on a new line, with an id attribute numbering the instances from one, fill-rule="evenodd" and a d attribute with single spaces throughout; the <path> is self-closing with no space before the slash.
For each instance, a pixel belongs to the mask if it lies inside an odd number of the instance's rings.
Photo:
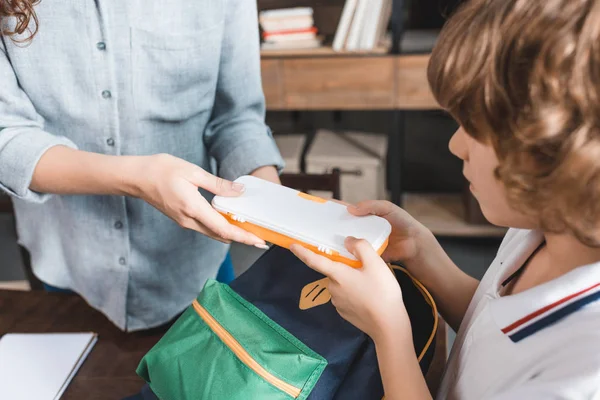
<path id="1" fill-rule="evenodd" d="M 600 0 L 470 0 L 444 26 L 433 93 L 498 155 L 509 204 L 600 245 Z"/>

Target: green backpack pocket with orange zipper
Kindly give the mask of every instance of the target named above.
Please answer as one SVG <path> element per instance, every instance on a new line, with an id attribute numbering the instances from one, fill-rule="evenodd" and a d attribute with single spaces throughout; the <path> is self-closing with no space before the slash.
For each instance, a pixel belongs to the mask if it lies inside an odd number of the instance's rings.
<path id="1" fill-rule="evenodd" d="M 162 400 L 306 399 L 327 361 L 210 280 L 137 373 Z"/>

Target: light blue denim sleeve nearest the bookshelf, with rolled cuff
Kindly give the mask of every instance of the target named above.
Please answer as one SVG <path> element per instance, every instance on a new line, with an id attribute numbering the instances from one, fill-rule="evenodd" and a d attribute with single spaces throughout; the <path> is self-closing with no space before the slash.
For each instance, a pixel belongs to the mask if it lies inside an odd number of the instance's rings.
<path id="1" fill-rule="evenodd" d="M 213 114 L 204 133 L 219 175 L 236 179 L 256 168 L 283 168 L 271 131 L 264 122 L 255 1 L 226 2 L 224 36 Z"/>

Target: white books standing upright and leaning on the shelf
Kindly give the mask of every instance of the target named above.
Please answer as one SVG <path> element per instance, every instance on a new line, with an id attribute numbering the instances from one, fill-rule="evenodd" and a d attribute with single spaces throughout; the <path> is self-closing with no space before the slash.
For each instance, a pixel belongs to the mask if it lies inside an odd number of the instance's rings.
<path id="1" fill-rule="evenodd" d="M 369 51 L 385 39 L 392 0 L 346 0 L 333 39 L 335 51 Z"/>

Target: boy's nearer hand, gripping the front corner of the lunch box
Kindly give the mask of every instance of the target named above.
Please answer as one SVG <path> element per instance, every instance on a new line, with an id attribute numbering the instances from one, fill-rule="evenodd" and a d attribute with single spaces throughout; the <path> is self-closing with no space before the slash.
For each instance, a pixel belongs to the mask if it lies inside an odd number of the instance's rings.
<path id="1" fill-rule="evenodd" d="M 346 247 L 362 268 L 331 261 L 300 245 L 291 250 L 310 268 L 329 277 L 331 302 L 345 320 L 375 341 L 395 333 L 410 335 L 402 292 L 388 265 L 367 241 L 348 238 Z"/>

